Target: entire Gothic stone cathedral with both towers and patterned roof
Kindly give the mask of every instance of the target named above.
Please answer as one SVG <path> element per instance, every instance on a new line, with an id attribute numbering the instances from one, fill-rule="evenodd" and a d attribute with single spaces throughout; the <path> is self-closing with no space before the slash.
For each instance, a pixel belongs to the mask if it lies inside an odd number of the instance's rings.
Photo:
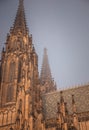
<path id="1" fill-rule="evenodd" d="M 39 77 L 23 0 L 1 55 L 0 130 L 89 130 L 89 85 L 57 91 L 46 48 Z"/>

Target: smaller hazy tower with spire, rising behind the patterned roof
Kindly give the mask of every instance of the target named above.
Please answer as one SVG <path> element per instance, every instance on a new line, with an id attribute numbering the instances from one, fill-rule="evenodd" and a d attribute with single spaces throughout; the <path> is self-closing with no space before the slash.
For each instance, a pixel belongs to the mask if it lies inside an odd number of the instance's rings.
<path id="1" fill-rule="evenodd" d="M 43 63 L 40 74 L 41 92 L 48 93 L 56 90 L 56 84 L 51 75 L 47 49 L 44 48 Z"/>

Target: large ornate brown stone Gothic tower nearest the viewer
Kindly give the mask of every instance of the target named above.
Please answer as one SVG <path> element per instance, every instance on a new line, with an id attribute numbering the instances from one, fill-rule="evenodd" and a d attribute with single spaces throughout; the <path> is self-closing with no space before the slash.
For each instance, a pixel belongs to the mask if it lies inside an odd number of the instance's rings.
<path id="1" fill-rule="evenodd" d="M 26 26 L 23 0 L 19 0 L 14 25 L 2 50 L 0 130 L 37 128 L 37 118 L 42 119 L 38 79 L 38 57 Z"/>

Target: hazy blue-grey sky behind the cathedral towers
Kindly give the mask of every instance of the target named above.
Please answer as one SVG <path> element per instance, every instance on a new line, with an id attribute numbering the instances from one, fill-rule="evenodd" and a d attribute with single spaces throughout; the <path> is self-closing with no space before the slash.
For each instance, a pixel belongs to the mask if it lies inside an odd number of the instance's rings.
<path id="1" fill-rule="evenodd" d="M 26 21 L 41 70 L 44 47 L 58 89 L 89 83 L 89 0 L 24 0 Z M 18 0 L 0 0 L 0 50 Z"/>

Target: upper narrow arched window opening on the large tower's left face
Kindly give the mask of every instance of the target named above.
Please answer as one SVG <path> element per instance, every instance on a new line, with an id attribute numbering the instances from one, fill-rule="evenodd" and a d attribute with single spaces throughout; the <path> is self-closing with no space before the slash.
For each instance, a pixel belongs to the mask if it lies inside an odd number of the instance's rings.
<path id="1" fill-rule="evenodd" d="M 15 78 L 15 62 L 10 63 L 10 71 L 9 71 L 9 82 L 13 82 Z"/>

